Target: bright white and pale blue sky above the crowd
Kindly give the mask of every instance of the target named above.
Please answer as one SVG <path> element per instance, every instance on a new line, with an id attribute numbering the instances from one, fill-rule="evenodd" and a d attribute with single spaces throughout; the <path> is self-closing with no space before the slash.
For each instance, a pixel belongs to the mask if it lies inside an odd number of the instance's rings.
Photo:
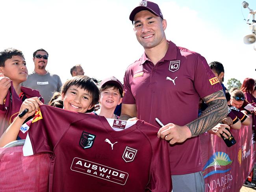
<path id="1" fill-rule="evenodd" d="M 167 20 L 167 39 L 203 55 L 208 63 L 220 61 L 225 81 L 256 78 L 256 51 L 243 43 L 249 35 L 249 10 L 239 0 L 158 0 Z M 248 0 L 256 10 L 256 1 Z M 49 52 L 46 69 L 62 81 L 70 68 L 81 64 L 85 75 L 121 81 L 128 65 L 143 48 L 137 42 L 129 15 L 137 0 L 8 0 L 0 3 L 0 50 L 22 50 L 28 70 L 33 70 L 32 53 Z M 250 18 L 252 19 L 252 17 Z M 250 20 L 251 21 L 251 20 Z"/>

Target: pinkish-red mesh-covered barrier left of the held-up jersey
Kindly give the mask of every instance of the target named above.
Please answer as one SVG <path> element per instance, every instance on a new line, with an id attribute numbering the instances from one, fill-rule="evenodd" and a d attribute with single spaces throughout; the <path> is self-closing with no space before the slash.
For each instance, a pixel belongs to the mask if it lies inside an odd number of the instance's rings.
<path id="1" fill-rule="evenodd" d="M 0 192 L 47 192 L 48 153 L 24 157 L 23 141 L 0 148 Z"/>

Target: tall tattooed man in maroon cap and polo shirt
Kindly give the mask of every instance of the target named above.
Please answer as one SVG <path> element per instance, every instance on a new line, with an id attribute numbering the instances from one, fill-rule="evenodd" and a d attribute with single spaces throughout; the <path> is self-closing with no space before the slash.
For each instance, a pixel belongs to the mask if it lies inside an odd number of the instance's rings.
<path id="1" fill-rule="evenodd" d="M 157 4 L 140 2 L 130 14 L 135 35 L 144 47 L 141 58 L 124 76 L 121 119 L 137 117 L 160 127 L 170 142 L 173 191 L 204 191 L 200 140 L 227 114 L 222 87 L 204 57 L 167 41 L 167 22 Z M 208 108 L 198 118 L 198 102 Z"/>

